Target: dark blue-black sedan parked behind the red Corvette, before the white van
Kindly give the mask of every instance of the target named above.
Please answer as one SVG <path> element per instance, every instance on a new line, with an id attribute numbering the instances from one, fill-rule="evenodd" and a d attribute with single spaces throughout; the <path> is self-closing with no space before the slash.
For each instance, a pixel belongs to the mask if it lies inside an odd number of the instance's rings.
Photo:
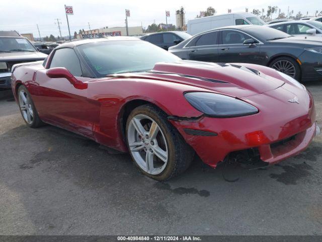
<path id="1" fill-rule="evenodd" d="M 183 59 L 253 63 L 297 80 L 322 80 L 322 40 L 304 40 L 276 29 L 239 25 L 214 29 L 169 49 Z"/>

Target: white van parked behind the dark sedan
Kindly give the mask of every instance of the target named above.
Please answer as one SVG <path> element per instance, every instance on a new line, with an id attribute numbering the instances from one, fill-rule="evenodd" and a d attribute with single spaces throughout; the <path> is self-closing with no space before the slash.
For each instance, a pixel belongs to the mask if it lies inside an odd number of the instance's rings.
<path id="1" fill-rule="evenodd" d="M 195 35 L 201 32 L 231 25 L 265 25 L 258 16 L 251 13 L 230 13 L 188 20 L 187 33 Z"/>

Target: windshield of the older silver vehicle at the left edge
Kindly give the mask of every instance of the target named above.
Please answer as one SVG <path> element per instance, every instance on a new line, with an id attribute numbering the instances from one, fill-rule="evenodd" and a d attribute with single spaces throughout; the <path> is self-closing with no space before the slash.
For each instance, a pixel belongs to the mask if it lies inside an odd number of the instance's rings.
<path id="1" fill-rule="evenodd" d="M 25 38 L 0 37 L 0 52 L 35 52 L 34 46 Z"/>

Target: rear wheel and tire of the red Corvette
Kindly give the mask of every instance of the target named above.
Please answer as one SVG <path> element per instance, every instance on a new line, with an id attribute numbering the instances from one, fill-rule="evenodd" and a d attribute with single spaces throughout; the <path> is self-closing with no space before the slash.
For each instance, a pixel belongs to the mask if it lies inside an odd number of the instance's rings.
<path id="1" fill-rule="evenodd" d="M 38 112 L 36 110 L 34 102 L 31 99 L 31 95 L 25 86 L 21 85 L 18 88 L 17 97 L 19 109 L 26 124 L 30 128 L 38 128 L 44 125 L 44 123 L 38 116 Z"/>

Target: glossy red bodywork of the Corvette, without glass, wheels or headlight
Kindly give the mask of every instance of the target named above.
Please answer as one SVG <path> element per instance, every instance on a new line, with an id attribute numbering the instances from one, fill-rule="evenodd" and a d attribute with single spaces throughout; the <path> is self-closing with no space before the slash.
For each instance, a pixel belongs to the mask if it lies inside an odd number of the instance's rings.
<path id="1" fill-rule="evenodd" d="M 50 58 L 50 57 L 49 57 Z M 127 152 L 122 127 L 124 107 L 131 101 L 153 103 L 167 113 L 201 159 L 212 167 L 233 151 L 258 148 L 261 159 L 279 162 L 305 149 L 315 134 L 312 96 L 273 69 L 238 64 L 260 72 L 261 77 L 233 66 L 209 63 L 159 63 L 151 72 L 82 78 L 77 89 L 65 78 L 50 79 L 42 65 L 18 66 L 12 88 L 29 90 L 40 118 L 49 124 L 84 135 L 100 144 Z M 213 81 L 207 81 L 211 79 Z M 244 100 L 259 109 L 253 115 L 207 117 L 190 105 L 184 93 L 214 92 Z M 298 97 L 299 103 L 288 102 Z M 16 97 L 17 99 L 17 97 Z M 216 133 L 195 136 L 184 129 Z M 286 145 L 272 144 L 294 136 Z"/>

